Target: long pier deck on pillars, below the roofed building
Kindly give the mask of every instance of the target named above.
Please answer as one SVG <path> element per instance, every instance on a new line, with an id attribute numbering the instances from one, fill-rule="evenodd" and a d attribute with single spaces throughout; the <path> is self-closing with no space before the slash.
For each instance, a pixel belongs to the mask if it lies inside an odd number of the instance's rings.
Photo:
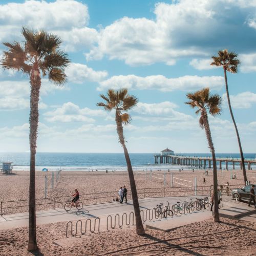
<path id="1" fill-rule="evenodd" d="M 185 165 L 185 166 L 195 166 L 199 168 L 211 168 L 212 167 L 212 158 L 211 157 L 195 157 L 195 156 L 177 156 L 177 155 L 163 155 L 163 154 L 155 154 L 155 164 L 177 164 L 177 165 Z M 242 161 L 241 158 L 216 158 L 217 168 L 220 169 L 228 168 L 228 163 L 233 165 L 233 169 L 235 169 L 234 165 L 236 163 L 240 164 L 240 169 L 242 169 Z M 256 164 L 255 159 L 245 159 L 245 164 L 248 165 L 248 170 L 251 169 L 251 164 Z"/>

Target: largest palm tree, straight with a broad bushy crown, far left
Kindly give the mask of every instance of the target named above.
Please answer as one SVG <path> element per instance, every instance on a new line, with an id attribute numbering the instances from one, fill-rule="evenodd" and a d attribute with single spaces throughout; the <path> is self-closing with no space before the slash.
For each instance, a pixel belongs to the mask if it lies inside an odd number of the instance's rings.
<path id="1" fill-rule="evenodd" d="M 8 51 L 4 52 L 1 65 L 4 69 L 21 71 L 30 77 L 30 183 L 29 183 L 29 243 L 28 250 L 37 249 L 35 216 L 35 154 L 38 127 L 38 101 L 41 87 L 41 75 L 51 82 L 62 85 L 66 82 L 65 67 L 68 56 L 60 51 L 61 40 L 58 36 L 45 31 L 33 31 L 22 28 L 24 42 L 4 42 Z"/>

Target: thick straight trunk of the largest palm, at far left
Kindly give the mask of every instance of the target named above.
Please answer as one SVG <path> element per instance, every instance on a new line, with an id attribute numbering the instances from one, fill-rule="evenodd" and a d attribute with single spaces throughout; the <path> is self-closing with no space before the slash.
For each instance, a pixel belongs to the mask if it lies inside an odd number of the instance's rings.
<path id="1" fill-rule="evenodd" d="M 28 251 L 37 250 L 36 242 L 36 215 L 35 215 L 35 154 L 38 127 L 38 101 L 41 86 L 40 73 L 37 67 L 33 67 L 30 74 L 30 182 L 29 182 L 29 243 Z"/>

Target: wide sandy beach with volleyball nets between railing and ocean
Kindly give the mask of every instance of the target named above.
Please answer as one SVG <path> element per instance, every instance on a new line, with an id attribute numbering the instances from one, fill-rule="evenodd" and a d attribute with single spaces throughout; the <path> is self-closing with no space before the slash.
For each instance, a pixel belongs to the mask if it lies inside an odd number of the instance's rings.
<path id="1" fill-rule="evenodd" d="M 173 188 L 171 185 L 171 174 L 173 174 Z M 230 179 L 230 172 L 224 170 L 218 170 L 218 183 L 225 185 L 228 181 L 230 188 L 232 185 L 243 184 L 243 177 L 241 170 L 233 171 L 233 175 L 236 174 L 237 179 Z M 47 198 L 45 198 L 45 176 L 47 175 Z M 147 172 L 134 172 L 138 196 L 139 198 L 163 196 L 164 184 L 163 184 L 163 171 L 155 171 L 152 173 L 152 181 L 150 181 L 150 174 Z M 146 176 L 146 177 L 145 177 Z M 256 183 L 256 171 L 247 171 L 247 176 L 251 183 Z M 37 210 L 51 209 L 63 207 L 63 204 L 70 198 L 69 196 L 74 194 L 74 189 L 77 188 L 80 193 L 80 199 L 84 204 L 95 204 L 102 202 L 110 202 L 117 197 L 117 191 L 119 186 L 126 185 L 130 190 L 130 182 L 127 172 L 73 172 L 62 171 L 58 182 L 56 182 L 56 172 L 54 172 L 54 186 L 51 188 L 52 174 L 51 172 L 36 172 L 36 198 Z M 198 196 L 208 195 L 209 186 L 213 184 L 212 171 L 209 171 L 208 176 L 203 175 L 203 170 L 172 170 L 170 173 L 165 173 L 165 196 L 189 196 L 195 195 L 194 186 L 195 177 L 197 178 L 197 188 L 199 189 Z M 203 178 L 205 178 L 205 184 L 203 184 Z M 180 184 L 179 184 L 180 183 Z M 3 207 L 13 206 L 26 206 L 28 205 L 29 197 L 29 171 L 17 171 L 13 172 L 13 175 L 0 175 L 0 187 L 3 187 L 0 195 L 0 201 L 16 201 L 25 200 L 19 202 L 3 203 Z M 180 188 L 178 188 L 180 187 Z M 236 186 L 234 186 L 236 187 Z M 159 188 L 159 189 L 153 189 Z M 161 190 L 162 189 L 162 190 Z M 97 194 L 97 199 L 95 199 Z M 131 193 L 127 195 L 128 199 L 131 199 Z M 41 199 L 42 200 L 39 200 Z M 8 208 L 4 209 L 5 214 L 12 214 L 16 212 L 27 211 L 28 207 Z"/>

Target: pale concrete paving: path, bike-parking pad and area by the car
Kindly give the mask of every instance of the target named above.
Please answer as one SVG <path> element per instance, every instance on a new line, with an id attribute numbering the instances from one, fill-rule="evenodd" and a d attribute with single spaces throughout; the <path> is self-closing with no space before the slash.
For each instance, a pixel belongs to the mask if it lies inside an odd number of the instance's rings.
<path id="1" fill-rule="evenodd" d="M 189 197 L 196 198 L 196 197 Z M 188 198 L 188 200 L 189 200 Z M 177 201 L 183 202 L 186 201 L 186 197 L 165 197 L 165 198 L 145 198 L 140 199 L 139 204 L 141 209 L 152 209 L 156 204 L 169 202 L 170 205 L 176 203 Z M 221 209 L 220 217 L 226 218 L 241 218 L 244 220 L 255 220 L 253 215 L 256 210 L 253 207 L 248 207 L 245 202 L 237 202 L 231 199 L 230 197 L 223 197 L 223 201 L 220 204 Z M 36 212 L 36 223 L 40 224 L 50 224 L 57 222 L 68 222 L 68 221 L 77 221 L 85 220 L 88 218 L 99 217 L 101 219 L 101 225 L 103 224 L 105 229 L 106 217 L 108 215 L 121 214 L 123 212 L 129 213 L 133 211 L 132 201 L 127 201 L 127 204 L 120 204 L 119 202 L 110 202 L 97 205 L 88 205 L 84 206 L 83 209 L 78 211 L 76 208 L 72 209 L 69 212 L 66 212 L 63 208 L 52 209 L 52 210 L 43 210 Z M 244 217 L 245 215 L 251 214 L 250 218 Z M 205 219 L 211 218 L 211 212 L 208 210 L 200 210 L 190 212 L 185 215 L 174 216 L 173 218 L 168 218 L 167 220 L 153 220 L 146 221 L 144 224 L 150 228 L 156 228 L 161 230 L 171 230 L 186 224 L 202 221 Z M 174 221 L 170 221 L 170 219 Z M 241 218 L 242 219 L 242 218 Z M 13 229 L 18 227 L 28 226 L 28 213 L 23 214 L 12 214 L 4 215 L 0 217 L 0 230 L 1 229 Z"/>

